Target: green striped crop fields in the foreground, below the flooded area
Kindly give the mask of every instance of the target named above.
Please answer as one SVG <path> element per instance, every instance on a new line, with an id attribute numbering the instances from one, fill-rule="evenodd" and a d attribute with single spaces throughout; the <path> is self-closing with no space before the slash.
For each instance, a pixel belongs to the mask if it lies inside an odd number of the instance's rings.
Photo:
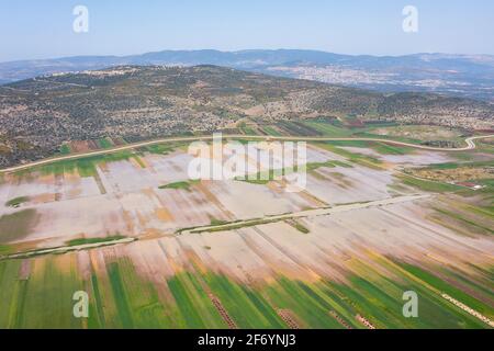
<path id="1" fill-rule="evenodd" d="M 492 296 L 489 282 L 473 282 L 445 269 L 438 275 L 384 258 L 374 262 L 398 279 L 357 261 L 353 269 L 366 273 L 348 272 L 345 284 L 280 275 L 273 282 L 250 285 L 193 269 L 164 276 L 164 284 L 157 285 L 141 275 L 132 260 L 123 258 L 106 262 L 103 270 L 92 270 L 90 275 L 77 269 L 75 253 L 4 260 L 0 261 L 0 328 L 226 328 L 211 296 L 239 328 L 288 328 L 280 309 L 289 310 L 300 328 L 344 328 L 330 312 L 352 328 L 364 328 L 357 315 L 377 328 L 487 327 L 442 298 L 441 293 L 490 318 L 494 316 L 493 307 L 482 302 Z M 88 319 L 72 316 L 71 297 L 81 290 L 90 298 Z M 402 314 L 405 291 L 419 296 L 418 318 Z M 479 298 L 468 293 L 472 291 Z"/>

